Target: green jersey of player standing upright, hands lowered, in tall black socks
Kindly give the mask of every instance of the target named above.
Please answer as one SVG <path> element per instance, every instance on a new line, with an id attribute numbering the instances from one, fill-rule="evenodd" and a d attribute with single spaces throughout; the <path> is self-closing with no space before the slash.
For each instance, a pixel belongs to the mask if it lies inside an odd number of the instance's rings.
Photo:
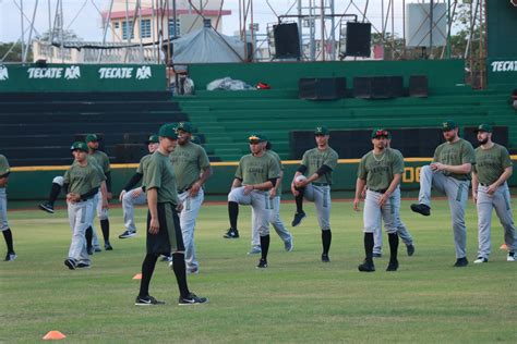
<path id="1" fill-rule="evenodd" d="M 373 150 L 371 150 L 361 158 L 358 177 L 366 181 L 369 189 L 385 191 L 392 184 L 395 174 L 401 174 L 402 172 L 402 153 L 398 150 L 386 148 L 380 156 L 375 156 Z"/>

